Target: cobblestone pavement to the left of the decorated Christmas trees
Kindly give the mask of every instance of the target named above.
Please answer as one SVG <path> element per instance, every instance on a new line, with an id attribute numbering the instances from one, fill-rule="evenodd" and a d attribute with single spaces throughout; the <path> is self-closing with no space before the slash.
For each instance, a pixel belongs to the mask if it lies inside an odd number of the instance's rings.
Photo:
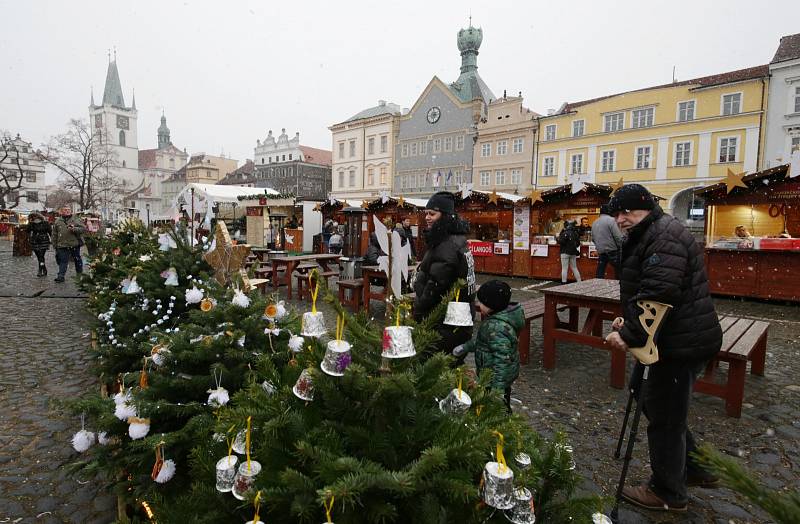
<path id="1" fill-rule="evenodd" d="M 88 372 L 84 297 L 71 282 L 36 277 L 34 257 L 12 257 L 0 241 L 0 523 L 107 523 L 116 497 L 82 483 L 62 466 L 77 456 L 72 434 L 80 420 L 50 401 L 97 387 Z"/>

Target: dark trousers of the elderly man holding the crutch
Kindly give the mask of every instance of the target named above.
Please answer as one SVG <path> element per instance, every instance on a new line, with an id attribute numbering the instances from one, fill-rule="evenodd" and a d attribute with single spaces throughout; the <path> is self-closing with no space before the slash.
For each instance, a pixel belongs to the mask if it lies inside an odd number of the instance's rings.
<path id="1" fill-rule="evenodd" d="M 687 425 L 689 398 L 702 363 L 662 360 L 650 366 L 643 412 L 649 424 L 650 489 L 670 505 L 686 504 L 687 472 L 702 471 L 690 457 L 697 446 Z M 636 364 L 632 384 L 641 383 L 644 366 Z M 688 471 L 687 471 L 688 470 Z"/>

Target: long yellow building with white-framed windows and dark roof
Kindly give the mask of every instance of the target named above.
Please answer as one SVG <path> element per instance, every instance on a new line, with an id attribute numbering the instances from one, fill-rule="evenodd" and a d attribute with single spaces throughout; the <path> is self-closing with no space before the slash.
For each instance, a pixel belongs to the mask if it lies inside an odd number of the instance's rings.
<path id="1" fill-rule="evenodd" d="M 638 182 L 692 218 L 692 189 L 756 170 L 768 87 L 764 65 L 564 104 L 539 121 L 537 186 Z"/>

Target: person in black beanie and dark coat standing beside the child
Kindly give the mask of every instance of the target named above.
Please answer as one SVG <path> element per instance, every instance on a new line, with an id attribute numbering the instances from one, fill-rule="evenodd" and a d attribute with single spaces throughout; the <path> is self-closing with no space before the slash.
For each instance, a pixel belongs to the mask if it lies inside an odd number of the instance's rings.
<path id="1" fill-rule="evenodd" d="M 458 279 L 466 286 L 459 291 L 459 301 L 474 308 L 475 263 L 467 247 L 469 224 L 455 213 L 455 197 L 447 191 L 433 195 L 425 206 L 425 243 L 427 251 L 414 276 L 414 318 L 421 321 L 442 301 Z M 472 338 L 471 327 L 440 324 L 439 351 L 450 353 Z"/>

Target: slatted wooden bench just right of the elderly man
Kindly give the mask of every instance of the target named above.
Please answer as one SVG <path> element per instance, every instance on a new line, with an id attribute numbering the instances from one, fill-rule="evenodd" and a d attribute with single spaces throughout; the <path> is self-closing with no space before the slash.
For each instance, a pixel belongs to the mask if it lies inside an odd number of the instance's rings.
<path id="1" fill-rule="evenodd" d="M 751 362 L 750 373 L 764 376 L 769 323 L 728 316 L 720 318 L 719 323 L 722 348 L 706 366 L 705 374 L 695 382 L 694 390 L 725 399 L 725 413 L 738 418 L 742 415 L 747 362 Z M 714 381 L 714 371 L 720 362 L 728 363 L 725 383 Z"/>

